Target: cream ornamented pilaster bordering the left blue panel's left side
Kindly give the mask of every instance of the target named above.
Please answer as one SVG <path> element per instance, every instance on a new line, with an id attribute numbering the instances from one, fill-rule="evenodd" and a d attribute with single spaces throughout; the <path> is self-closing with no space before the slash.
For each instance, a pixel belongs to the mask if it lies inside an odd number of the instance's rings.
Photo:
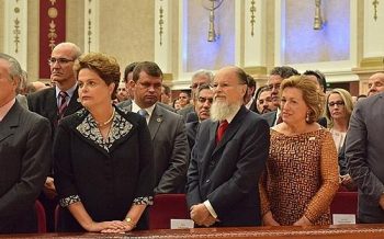
<path id="1" fill-rule="evenodd" d="M 155 62 L 165 72 L 165 81 L 172 80 L 172 21 L 171 1 L 156 0 L 155 2 Z"/>

